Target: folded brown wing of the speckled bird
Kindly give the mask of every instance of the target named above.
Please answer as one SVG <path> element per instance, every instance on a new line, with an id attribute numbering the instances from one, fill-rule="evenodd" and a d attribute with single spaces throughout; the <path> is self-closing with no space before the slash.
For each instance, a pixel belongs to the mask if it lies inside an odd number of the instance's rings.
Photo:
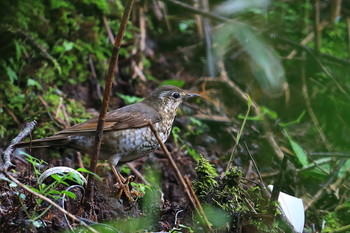
<path id="1" fill-rule="evenodd" d="M 147 126 L 148 121 L 153 124 L 161 120 L 160 114 L 152 107 L 140 102 L 119 108 L 107 113 L 104 131 L 141 128 Z M 58 132 L 62 134 L 81 134 L 96 131 L 98 117 L 94 117 L 81 124 Z"/>

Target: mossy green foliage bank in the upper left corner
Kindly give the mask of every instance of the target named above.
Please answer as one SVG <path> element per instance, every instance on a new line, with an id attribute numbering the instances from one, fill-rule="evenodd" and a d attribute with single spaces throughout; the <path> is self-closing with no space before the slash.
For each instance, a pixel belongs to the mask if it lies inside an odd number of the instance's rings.
<path id="1" fill-rule="evenodd" d="M 57 109 L 61 98 L 71 124 L 88 118 L 82 101 L 75 100 L 79 99 L 77 93 L 73 90 L 64 94 L 63 90 L 69 85 L 85 85 L 92 76 L 89 60 L 97 77 L 105 76 L 112 45 L 102 17 L 109 16 L 110 26 L 117 28 L 121 2 L 14 0 L 1 1 L 0 6 L 2 143 L 11 140 L 26 121 L 39 120 L 35 137 L 63 128 L 50 119 L 63 119 L 62 111 Z M 125 40 L 132 38 L 132 30 L 127 31 Z"/>

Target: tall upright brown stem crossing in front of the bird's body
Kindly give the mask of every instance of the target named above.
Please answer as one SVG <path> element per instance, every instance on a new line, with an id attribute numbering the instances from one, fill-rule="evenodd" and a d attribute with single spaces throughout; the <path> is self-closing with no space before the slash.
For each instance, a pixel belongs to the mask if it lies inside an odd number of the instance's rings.
<path id="1" fill-rule="evenodd" d="M 133 4 L 134 4 L 134 0 L 128 0 L 126 4 L 123 17 L 120 22 L 118 34 L 114 42 L 112 57 L 109 62 L 108 74 L 106 77 L 105 89 L 103 92 L 103 101 L 102 101 L 102 106 L 100 109 L 100 115 L 98 118 L 98 123 L 96 128 L 95 144 L 94 144 L 93 152 L 91 153 L 90 171 L 93 173 L 96 173 L 96 165 L 97 165 L 98 155 L 100 154 L 101 143 L 102 143 L 103 127 L 106 120 L 108 102 L 109 102 L 109 97 L 112 90 L 112 82 L 113 82 L 115 67 L 118 63 L 119 50 L 120 50 L 120 46 L 123 40 L 124 32 L 126 29 L 126 25 L 127 25 Z M 88 199 L 90 201 L 92 201 L 93 199 L 93 188 L 92 188 L 93 179 L 94 179 L 93 176 L 89 176 L 88 185 L 87 185 L 87 194 L 89 195 Z"/>

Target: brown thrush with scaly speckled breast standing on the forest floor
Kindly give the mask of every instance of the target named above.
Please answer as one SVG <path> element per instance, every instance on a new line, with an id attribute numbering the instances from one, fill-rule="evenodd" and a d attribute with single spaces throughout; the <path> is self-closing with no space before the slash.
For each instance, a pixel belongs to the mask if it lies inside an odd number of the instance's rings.
<path id="1" fill-rule="evenodd" d="M 162 142 L 171 132 L 176 112 L 180 104 L 190 98 L 200 96 L 197 93 L 165 85 L 157 88 L 144 100 L 110 111 L 106 115 L 100 158 L 108 160 L 109 166 L 119 186 L 118 197 L 124 192 L 133 200 L 128 188 L 128 180 L 116 166 L 136 160 L 155 151 L 159 147 L 157 138 L 149 127 L 151 122 Z M 83 153 L 91 153 L 94 147 L 98 118 L 91 118 L 57 132 L 53 136 L 20 142 L 15 148 L 66 147 Z"/>

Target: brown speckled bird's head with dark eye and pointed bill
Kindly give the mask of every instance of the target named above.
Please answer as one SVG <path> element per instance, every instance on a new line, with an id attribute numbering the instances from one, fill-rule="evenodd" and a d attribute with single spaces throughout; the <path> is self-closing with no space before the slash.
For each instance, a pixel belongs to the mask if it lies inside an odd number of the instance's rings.
<path id="1" fill-rule="evenodd" d="M 176 112 L 183 101 L 196 96 L 199 94 L 167 85 L 153 91 L 143 102 L 159 111 Z"/>

